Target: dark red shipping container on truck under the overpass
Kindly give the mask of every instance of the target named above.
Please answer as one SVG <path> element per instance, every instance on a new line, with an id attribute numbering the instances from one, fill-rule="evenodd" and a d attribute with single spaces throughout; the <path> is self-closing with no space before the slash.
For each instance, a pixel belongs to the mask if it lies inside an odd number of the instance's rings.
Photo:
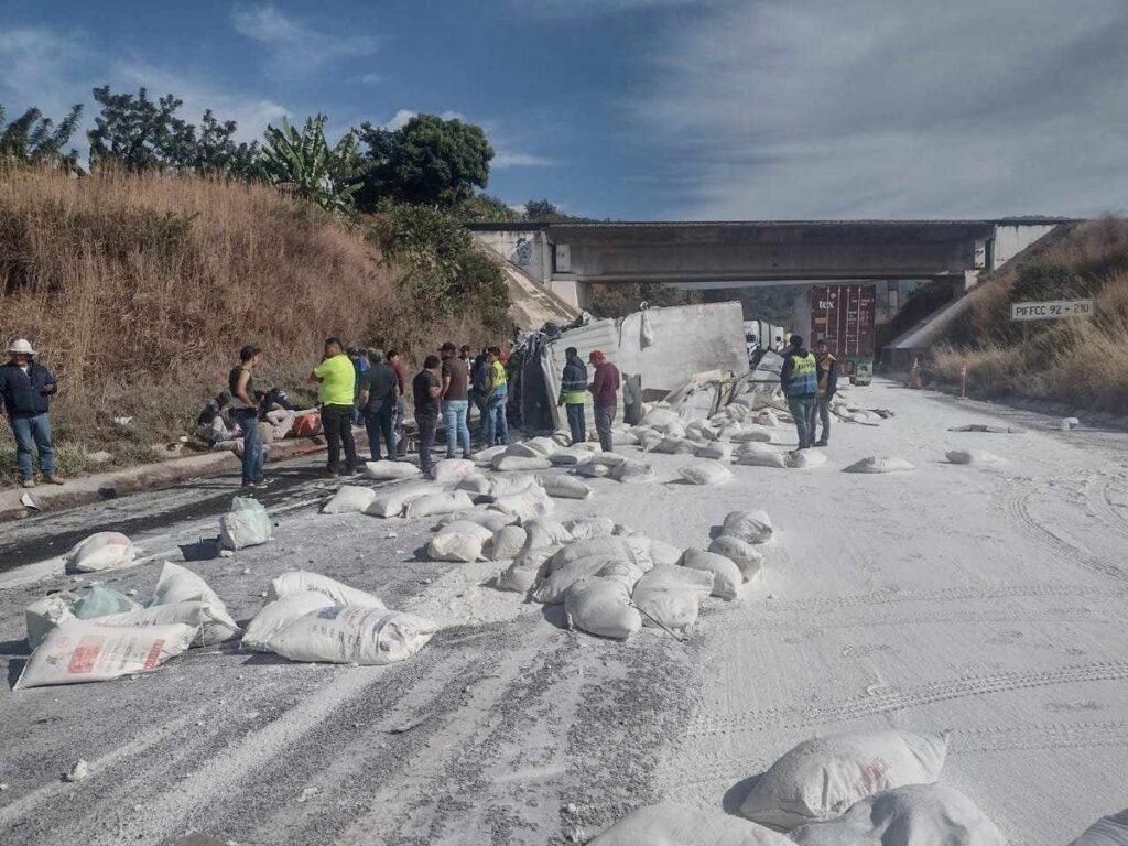
<path id="1" fill-rule="evenodd" d="M 876 291 L 873 285 L 816 285 L 810 291 L 811 347 L 826 341 L 855 385 L 873 374 Z"/>

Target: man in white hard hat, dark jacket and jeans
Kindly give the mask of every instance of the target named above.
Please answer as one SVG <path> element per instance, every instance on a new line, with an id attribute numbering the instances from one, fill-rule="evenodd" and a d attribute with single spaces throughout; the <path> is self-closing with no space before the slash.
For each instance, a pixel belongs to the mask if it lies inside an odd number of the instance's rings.
<path id="1" fill-rule="evenodd" d="M 19 338 L 8 347 L 8 363 L 0 365 L 0 417 L 8 415 L 16 435 L 16 462 L 24 487 L 35 487 L 33 447 L 39 452 L 43 481 L 51 485 L 62 484 L 55 475 L 55 449 L 47 418 L 47 397 L 59 390 L 59 386 L 51 371 L 34 360 L 35 354 L 32 344 Z"/>

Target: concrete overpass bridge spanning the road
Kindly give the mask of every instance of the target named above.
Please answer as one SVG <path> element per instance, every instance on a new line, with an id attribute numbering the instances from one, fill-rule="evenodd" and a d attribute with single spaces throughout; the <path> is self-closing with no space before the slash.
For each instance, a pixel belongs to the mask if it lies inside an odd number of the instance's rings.
<path id="1" fill-rule="evenodd" d="M 1066 218 L 472 223 L 486 247 L 576 307 L 587 287 L 949 280 L 963 293 Z"/>

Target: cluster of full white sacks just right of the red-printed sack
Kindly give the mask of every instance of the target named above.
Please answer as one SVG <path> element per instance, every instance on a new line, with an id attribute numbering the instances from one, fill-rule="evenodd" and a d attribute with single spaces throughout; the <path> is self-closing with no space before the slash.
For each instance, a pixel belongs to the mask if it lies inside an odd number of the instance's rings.
<path id="1" fill-rule="evenodd" d="M 431 620 L 389 610 L 371 593 L 296 570 L 271 581 L 243 646 L 291 661 L 373 667 L 411 658 L 437 631 Z"/>

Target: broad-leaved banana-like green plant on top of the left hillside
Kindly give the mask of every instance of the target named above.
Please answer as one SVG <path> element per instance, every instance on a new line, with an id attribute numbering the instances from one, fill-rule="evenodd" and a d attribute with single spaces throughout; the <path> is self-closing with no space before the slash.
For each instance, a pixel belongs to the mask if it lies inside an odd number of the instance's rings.
<path id="1" fill-rule="evenodd" d="M 326 211 L 349 212 L 360 157 L 356 134 L 349 131 L 333 147 L 325 139 L 325 115 L 306 118 L 301 132 L 282 118 L 282 127 L 267 126 L 259 156 L 259 173 L 273 185 L 296 193 Z"/>

